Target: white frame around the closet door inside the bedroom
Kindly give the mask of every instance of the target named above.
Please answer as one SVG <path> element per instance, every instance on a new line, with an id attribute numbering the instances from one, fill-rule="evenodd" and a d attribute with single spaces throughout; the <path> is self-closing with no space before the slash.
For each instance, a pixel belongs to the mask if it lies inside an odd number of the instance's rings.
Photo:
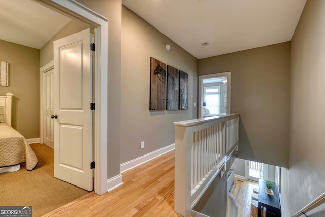
<path id="1" fill-rule="evenodd" d="M 40 143 L 44 143 L 44 102 L 43 78 L 44 73 L 54 68 L 54 61 L 50 61 L 40 68 Z"/>

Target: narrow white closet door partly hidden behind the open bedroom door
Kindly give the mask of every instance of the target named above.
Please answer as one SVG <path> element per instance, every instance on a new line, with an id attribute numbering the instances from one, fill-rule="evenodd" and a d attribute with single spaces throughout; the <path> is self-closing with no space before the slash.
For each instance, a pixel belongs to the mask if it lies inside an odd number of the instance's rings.
<path id="1" fill-rule="evenodd" d="M 51 115 L 54 114 L 54 70 L 51 69 L 43 74 L 43 143 L 54 149 L 54 120 Z"/>

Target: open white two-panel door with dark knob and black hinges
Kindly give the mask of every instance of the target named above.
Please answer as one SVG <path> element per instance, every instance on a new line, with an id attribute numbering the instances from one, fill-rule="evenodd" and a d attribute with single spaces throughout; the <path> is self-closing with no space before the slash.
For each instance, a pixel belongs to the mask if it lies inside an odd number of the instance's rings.
<path id="1" fill-rule="evenodd" d="M 90 29 L 54 42 L 54 177 L 93 189 Z"/>

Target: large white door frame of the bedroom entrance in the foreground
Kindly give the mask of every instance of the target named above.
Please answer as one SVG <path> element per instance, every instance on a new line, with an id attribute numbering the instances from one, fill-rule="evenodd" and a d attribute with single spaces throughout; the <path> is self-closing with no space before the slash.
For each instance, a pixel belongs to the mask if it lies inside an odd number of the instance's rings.
<path id="1" fill-rule="evenodd" d="M 78 18 L 95 29 L 95 162 L 94 191 L 102 195 L 107 192 L 107 91 L 108 91 L 108 19 L 86 8 L 74 0 L 36 0 L 60 13 Z M 100 61 L 103 59 L 103 61 Z M 103 103 L 101 103 L 103 102 Z"/>

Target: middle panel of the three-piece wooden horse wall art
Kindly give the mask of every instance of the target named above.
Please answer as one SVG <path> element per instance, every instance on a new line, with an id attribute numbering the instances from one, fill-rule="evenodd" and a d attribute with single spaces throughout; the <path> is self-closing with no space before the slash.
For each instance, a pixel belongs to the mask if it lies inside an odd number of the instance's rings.
<path id="1" fill-rule="evenodd" d="M 167 110 L 178 110 L 179 70 L 167 65 Z"/>

